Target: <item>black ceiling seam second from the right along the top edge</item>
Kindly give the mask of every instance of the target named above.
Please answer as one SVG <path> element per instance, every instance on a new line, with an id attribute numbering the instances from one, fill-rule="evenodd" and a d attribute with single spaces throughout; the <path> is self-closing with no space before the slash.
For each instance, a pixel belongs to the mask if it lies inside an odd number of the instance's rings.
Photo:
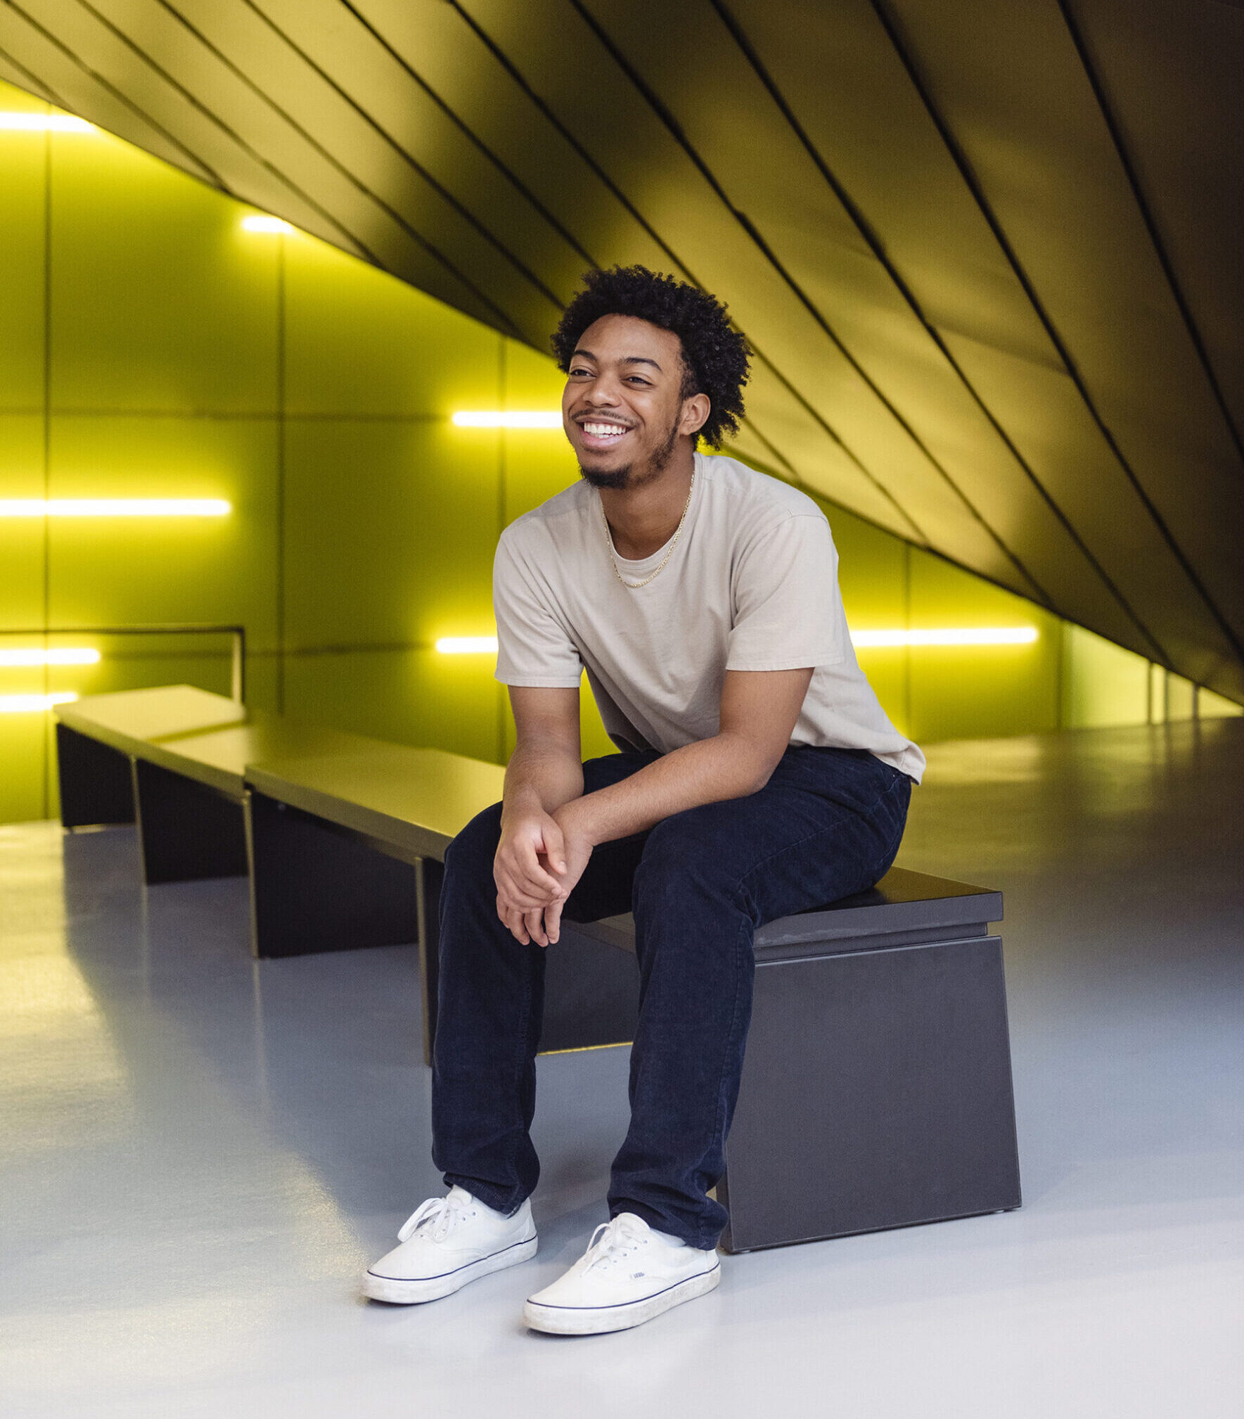
<path id="1" fill-rule="evenodd" d="M 980 179 L 976 176 L 972 163 L 967 160 L 967 153 L 963 150 L 963 148 L 959 143 L 959 139 L 950 131 L 950 125 L 946 122 L 946 119 L 942 116 L 940 109 L 933 102 L 932 91 L 929 85 L 925 82 L 925 78 L 921 74 L 911 51 L 904 43 L 896 21 L 889 14 L 884 0 L 870 0 L 870 3 L 872 6 L 874 13 L 877 14 L 877 18 L 881 21 L 881 27 L 885 30 L 889 43 L 894 45 L 894 51 L 898 55 L 899 62 L 902 64 L 904 70 L 906 70 L 908 78 L 911 79 L 912 87 L 919 95 L 921 102 L 925 106 L 925 111 L 932 119 L 933 126 L 938 129 L 938 135 L 945 143 L 946 150 L 950 155 L 950 159 L 959 169 L 959 175 L 962 176 L 965 184 L 967 186 L 967 190 L 972 193 L 973 201 L 980 209 L 980 214 L 989 224 L 989 230 L 993 233 L 994 241 L 997 241 L 1003 257 L 1006 258 L 1011 271 L 1014 271 L 1016 280 L 1020 282 L 1024 295 L 1028 298 L 1028 304 L 1033 307 L 1037 319 L 1041 322 L 1045 333 L 1050 338 L 1050 342 L 1054 345 L 1054 349 L 1058 353 L 1058 358 L 1062 360 L 1062 366 L 1067 370 L 1067 375 L 1071 379 L 1072 385 L 1075 386 L 1077 393 L 1084 402 L 1084 406 L 1088 410 L 1089 417 L 1092 419 L 1094 424 L 1096 426 L 1098 431 L 1105 440 L 1106 447 L 1116 458 L 1119 467 L 1123 470 L 1128 482 L 1132 485 L 1145 511 L 1152 518 L 1162 539 L 1170 549 L 1172 556 L 1179 562 L 1184 576 L 1187 576 L 1189 582 L 1193 585 L 1201 602 L 1204 603 L 1206 609 L 1209 610 L 1210 616 L 1213 617 L 1214 624 L 1218 627 L 1218 630 L 1223 633 L 1223 636 L 1227 639 L 1228 644 L 1234 650 L 1235 658 L 1244 663 L 1244 644 L 1241 644 L 1241 640 L 1235 634 L 1234 627 L 1230 624 L 1227 617 L 1218 609 L 1217 602 L 1214 600 L 1209 587 L 1201 580 L 1200 573 L 1192 565 L 1192 561 L 1180 546 L 1179 539 L 1170 531 L 1166 518 L 1157 509 L 1157 505 L 1153 502 L 1149 494 L 1145 491 L 1143 484 L 1136 475 L 1136 470 L 1132 467 L 1131 461 L 1128 460 L 1128 455 L 1119 447 L 1119 443 L 1115 438 L 1109 424 L 1105 421 L 1101 410 L 1096 407 L 1096 403 L 1092 394 L 1088 392 L 1088 386 L 1084 382 L 1084 376 L 1079 373 L 1079 368 L 1071 356 L 1071 350 L 1067 348 L 1062 336 L 1058 333 L 1058 328 L 1054 325 L 1050 312 L 1045 309 L 1040 295 L 1037 294 L 1037 289 L 1033 285 L 1028 272 L 1024 270 L 1024 265 L 1020 261 L 1016 248 L 1011 245 L 1010 237 L 1007 237 L 1006 231 L 1003 230 L 997 213 L 993 210 L 993 206 L 986 197 L 984 189 L 980 184 Z"/>

